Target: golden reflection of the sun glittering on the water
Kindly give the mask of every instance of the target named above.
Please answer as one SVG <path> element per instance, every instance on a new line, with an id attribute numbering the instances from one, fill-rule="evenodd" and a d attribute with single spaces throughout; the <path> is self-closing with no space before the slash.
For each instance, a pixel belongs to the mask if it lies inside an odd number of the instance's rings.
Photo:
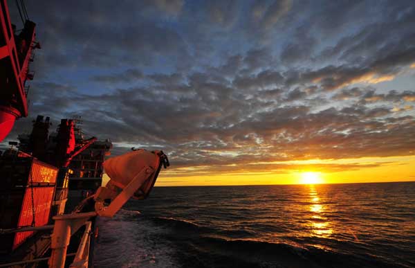
<path id="1" fill-rule="evenodd" d="M 320 197 L 318 196 L 317 190 L 313 184 L 310 186 L 310 202 L 311 205 L 309 210 L 313 215 L 310 221 L 311 234 L 316 235 L 319 238 L 329 238 L 333 234 L 331 223 L 324 217 L 324 212 L 327 211 L 326 205 L 321 204 Z"/>

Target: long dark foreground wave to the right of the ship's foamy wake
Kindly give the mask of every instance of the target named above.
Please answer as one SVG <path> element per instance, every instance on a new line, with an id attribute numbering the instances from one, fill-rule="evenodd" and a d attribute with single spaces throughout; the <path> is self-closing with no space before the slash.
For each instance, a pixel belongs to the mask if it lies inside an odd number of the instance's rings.
<path id="1" fill-rule="evenodd" d="M 165 238 L 182 249 L 182 263 L 187 267 L 198 265 L 194 256 L 214 267 L 218 264 L 212 260 L 239 267 L 393 267 L 373 256 L 338 253 L 312 244 L 257 240 L 246 230 L 210 229 L 174 217 L 152 217 L 151 221 L 170 229 Z"/>

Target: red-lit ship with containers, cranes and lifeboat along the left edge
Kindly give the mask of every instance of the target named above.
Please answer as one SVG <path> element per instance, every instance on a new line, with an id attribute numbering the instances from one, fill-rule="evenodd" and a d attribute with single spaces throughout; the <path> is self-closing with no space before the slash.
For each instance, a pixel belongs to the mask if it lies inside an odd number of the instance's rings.
<path id="1" fill-rule="evenodd" d="M 16 118 L 28 116 L 28 64 L 40 48 L 24 1 L 16 3 L 24 13 L 19 32 L 0 0 L 0 142 Z M 133 150 L 105 161 L 111 141 L 86 137 L 80 117 L 62 119 L 56 132 L 50 125 L 37 116 L 30 134 L 0 152 L 0 267 L 92 267 L 96 218 L 113 217 L 131 197 L 145 199 L 169 166 L 163 151 Z"/>

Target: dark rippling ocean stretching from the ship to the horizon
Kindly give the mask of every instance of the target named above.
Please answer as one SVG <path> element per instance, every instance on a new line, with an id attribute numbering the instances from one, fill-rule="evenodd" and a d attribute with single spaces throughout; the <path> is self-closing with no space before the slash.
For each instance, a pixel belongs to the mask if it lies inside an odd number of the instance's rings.
<path id="1" fill-rule="evenodd" d="M 156 187 L 98 226 L 95 267 L 415 267 L 415 182 Z"/>

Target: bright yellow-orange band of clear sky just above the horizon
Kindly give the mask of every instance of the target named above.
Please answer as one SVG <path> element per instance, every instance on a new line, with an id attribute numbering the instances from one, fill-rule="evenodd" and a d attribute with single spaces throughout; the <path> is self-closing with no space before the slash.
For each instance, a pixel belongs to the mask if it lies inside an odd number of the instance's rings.
<path id="1" fill-rule="evenodd" d="M 317 172 L 328 184 L 413 181 L 414 164 L 415 156 L 279 161 L 255 163 L 243 169 L 210 166 L 205 174 L 167 170 L 160 174 L 156 186 L 301 184 L 304 172 Z"/>

